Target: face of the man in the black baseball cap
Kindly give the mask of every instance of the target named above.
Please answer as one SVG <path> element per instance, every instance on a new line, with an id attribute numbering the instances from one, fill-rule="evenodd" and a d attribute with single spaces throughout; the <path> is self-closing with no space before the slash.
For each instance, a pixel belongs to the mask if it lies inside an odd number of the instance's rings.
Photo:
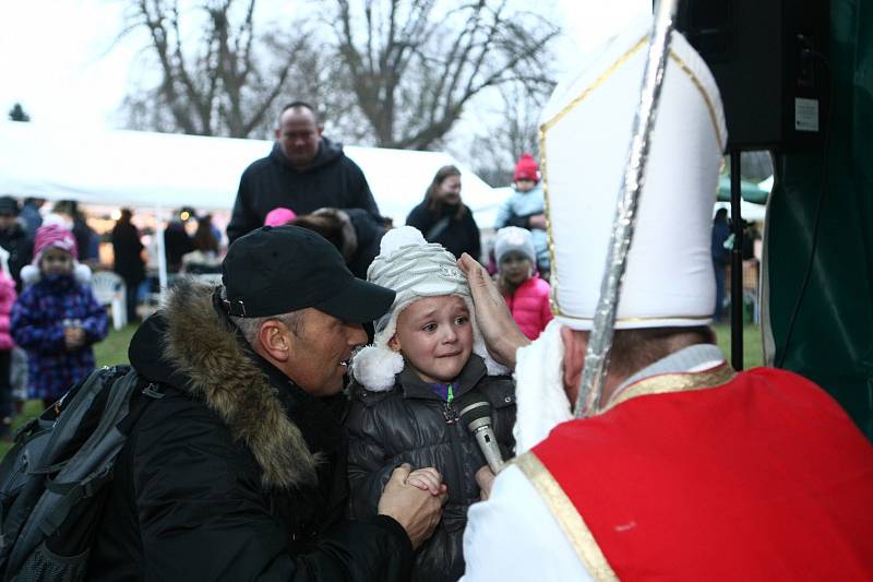
<path id="1" fill-rule="evenodd" d="M 297 334 L 288 329 L 290 357 L 285 372 L 313 396 L 343 390 L 351 351 L 367 343 L 359 323 L 348 323 L 318 309 L 308 308 Z"/>

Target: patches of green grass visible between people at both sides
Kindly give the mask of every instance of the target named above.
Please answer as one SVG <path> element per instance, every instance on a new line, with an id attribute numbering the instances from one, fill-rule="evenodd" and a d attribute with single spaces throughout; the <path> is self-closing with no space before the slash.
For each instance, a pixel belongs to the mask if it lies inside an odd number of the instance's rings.
<path id="1" fill-rule="evenodd" d="M 718 345 L 725 353 L 725 356 L 730 360 L 730 325 L 716 325 L 716 335 L 718 337 Z M 94 355 L 97 358 L 97 366 L 111 366 L 113 364 L 128 363 L 128 344 L 136 331 L 135 325 L 128 325 L 119 331 L 110 331 L 109 335 L 94 346 Z M 761 349 L 761 329 L 755 325 L 746 325 L 743 330 L 743 364 L 745 368 L 754 368 L 761 366 L 764 360 L 763 352 Z M 43 412 L 43 405 L 39 401 L 27 401 L 24 411 L 13 421 L 13 429 L 24 424 L 27 419 L 37 416 Z M 0 442 L 0 458 L 7 453 L 11 443 Z"/>

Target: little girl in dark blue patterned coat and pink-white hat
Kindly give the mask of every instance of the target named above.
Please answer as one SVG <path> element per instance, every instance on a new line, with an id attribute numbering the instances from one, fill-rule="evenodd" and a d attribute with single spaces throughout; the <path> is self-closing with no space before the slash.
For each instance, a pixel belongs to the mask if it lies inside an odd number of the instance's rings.
<path id="1" fill-rule="evenodd" d="M 106 310 L 91 290 L 91 270 L 76 262 L 73 234 L 59 224 L 36 230 L 27 285 L 12 307 L 12 336 L 27 351 L 32 399 L 46 407 L 94 369 L 92 345 L 106 337 Z"/>

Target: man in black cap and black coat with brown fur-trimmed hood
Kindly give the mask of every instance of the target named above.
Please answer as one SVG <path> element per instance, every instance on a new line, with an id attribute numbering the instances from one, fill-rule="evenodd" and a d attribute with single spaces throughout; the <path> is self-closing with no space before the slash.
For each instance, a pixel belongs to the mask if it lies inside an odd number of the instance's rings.
<path id="1" fill-rule="evenodd" d="M 402 465 L 379 515 L 343 518 L 344 377 L 394 292 L 292 226 L 231 245 L 223 282 L 182 280 L 131 341 L 163 397 L 119 456 L 88 580 L 407 579 L 443 485 L 406 485 Z"/>

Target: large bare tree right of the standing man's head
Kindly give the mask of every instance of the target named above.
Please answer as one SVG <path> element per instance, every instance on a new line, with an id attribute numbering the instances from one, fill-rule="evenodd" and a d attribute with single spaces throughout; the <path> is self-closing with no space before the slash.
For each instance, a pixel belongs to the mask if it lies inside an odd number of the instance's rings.
<path id="1" fill-rule="evenodd" d="M 380 146 L 432 146 L 490 87 L 550 86 L 559 29 L 509 0 L 334 2 L 342 81 Z"/>

